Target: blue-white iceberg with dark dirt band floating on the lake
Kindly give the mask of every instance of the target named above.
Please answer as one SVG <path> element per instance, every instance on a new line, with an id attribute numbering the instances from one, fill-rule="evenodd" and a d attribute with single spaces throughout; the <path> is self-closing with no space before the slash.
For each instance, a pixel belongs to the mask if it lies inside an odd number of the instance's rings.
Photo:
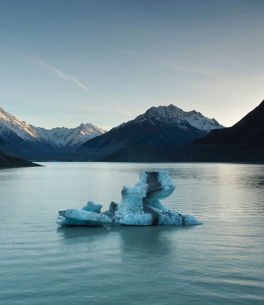
<path id="1" fill-rule="evenodd" d="M 133 187 L 124 186 L 122 200 L 111 202 L 109 210 L 89 201 L 82 209 L 59 211 L 60 226 L 201 224 L 194 216 L 180 214 L 163 206 L 160 199 L 170 196 L 175 186 L 167 171 L 142 172 Z"/>

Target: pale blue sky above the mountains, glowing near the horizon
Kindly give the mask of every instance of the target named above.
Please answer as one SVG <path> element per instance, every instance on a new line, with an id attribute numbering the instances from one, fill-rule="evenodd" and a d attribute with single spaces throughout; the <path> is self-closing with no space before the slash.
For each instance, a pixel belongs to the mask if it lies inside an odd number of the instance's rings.
<path id="1" fill-rule="evenodd" d="M 110 130 L 152 106 L 232 126 L 264 99 L 264 2 L 0 2 L 0 107 Z"/>

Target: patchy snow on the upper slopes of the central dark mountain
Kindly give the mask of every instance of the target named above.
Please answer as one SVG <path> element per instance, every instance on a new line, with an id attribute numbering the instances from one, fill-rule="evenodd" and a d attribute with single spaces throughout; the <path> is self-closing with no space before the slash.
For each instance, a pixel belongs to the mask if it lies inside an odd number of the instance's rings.
<path id="1" fill-rule="evenodd" d="M 200 112 L 195 110 L 184 111 L 181 108 L 178 108 L 174 105 L 169 106 L 159 106 L 151 107 L 146 113 L 139 115 L 135 118 L 134 123 L 142 122 L 144 120 L 159 120 L 159 121 L 170 121 L 173 124 L 178 125 L 182 129 L 186 129 L 187 126 L 183 124 L 184 121 L 187 121 L 190 125 L 200 129 L 201 131 L 210 132 L 213 129 L 224 128 L 225 126 L 218 123 L 214 118 L 209 119 L 205 117 Z M 124 126 L 128 123 L 123 123 L 116 128 Z"/>

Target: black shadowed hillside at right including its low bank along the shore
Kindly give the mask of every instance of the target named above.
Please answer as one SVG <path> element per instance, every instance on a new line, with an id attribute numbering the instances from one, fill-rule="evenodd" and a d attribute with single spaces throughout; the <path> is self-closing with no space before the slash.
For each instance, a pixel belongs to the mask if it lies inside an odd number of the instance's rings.
<path id="1" fill-rule="evenodd" d="M 235 125 L 187 145 L 130 144 L 106 162 L 264 162 L 264 100 Z"/>

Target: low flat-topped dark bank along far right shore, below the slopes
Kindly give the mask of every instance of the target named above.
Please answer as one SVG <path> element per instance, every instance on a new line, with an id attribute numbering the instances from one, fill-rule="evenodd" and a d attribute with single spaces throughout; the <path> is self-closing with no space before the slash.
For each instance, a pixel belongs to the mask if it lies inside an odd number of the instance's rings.
<path id="1" fill-rule="evenodd" d="M 264 162 L 264 145 L 129 145 L 103 162 Z"/>

